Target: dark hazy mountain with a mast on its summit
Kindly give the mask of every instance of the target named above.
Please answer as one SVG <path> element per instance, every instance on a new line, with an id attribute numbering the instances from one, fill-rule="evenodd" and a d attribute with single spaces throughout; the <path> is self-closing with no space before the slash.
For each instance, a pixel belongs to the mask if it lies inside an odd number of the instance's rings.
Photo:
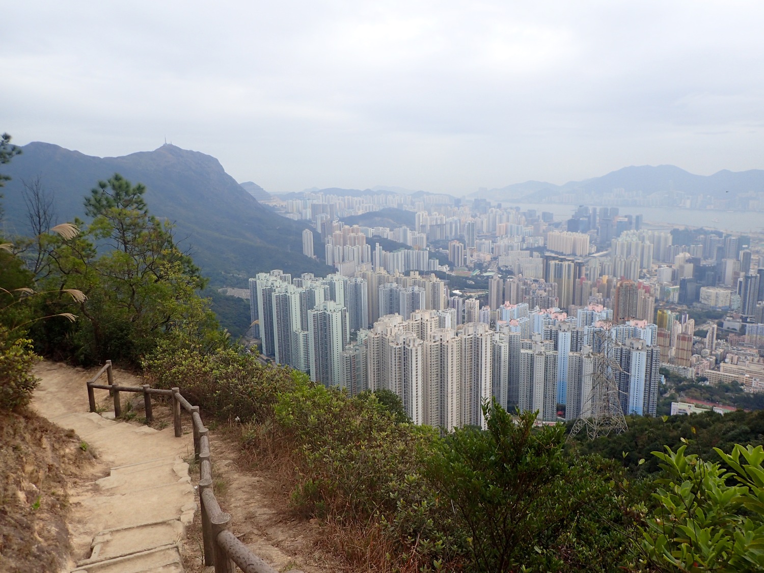
<path id="1" fill-rule="evenodd" d="M 246 286 L 249 277 L 274 268 L 293 274 L 331 272 L 303 255 L 306 223 L 261 205 L 215 157 L 168 144 L 125 157 L 90 157 L 40 142 L 22 151 L 2 166 L 2 173 L 12 178 L 2 190 L 7 233 L 28 233 L 24 180 L 40 176 L 55 198 L 56 222 L 65 222 L 85 219 L 86 194 L 99 180 L 120 173 L 131 183 L 144 183 L 151 214 L 175 223 L 181 248 L 191 249 L 215 285 Z M 317 234 L 315 241 L 320 244 Z"/>

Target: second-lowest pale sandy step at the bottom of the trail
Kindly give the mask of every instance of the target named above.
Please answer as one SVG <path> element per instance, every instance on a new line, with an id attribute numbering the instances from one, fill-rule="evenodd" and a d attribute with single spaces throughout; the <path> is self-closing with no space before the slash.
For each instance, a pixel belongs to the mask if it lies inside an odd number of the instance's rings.
<path id="1" fill-rule="evenodd" d="M 90 557 L 83 559 L 77 565 L 90 565 L 107 559 L 174 545 L 185 536 L 186 526 L 178 520 L 102 531 L 92 540 Z"/>

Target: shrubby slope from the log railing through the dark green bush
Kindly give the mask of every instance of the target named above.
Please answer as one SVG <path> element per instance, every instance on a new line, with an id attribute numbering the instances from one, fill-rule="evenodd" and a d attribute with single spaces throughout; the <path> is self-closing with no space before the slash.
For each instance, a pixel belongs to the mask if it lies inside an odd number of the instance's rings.
<path id="1" fill-rule="evenodd" d="M 487 407 L 487 432 L 444 438 L 400 422 L 374 394 L 346 397 L 233 350 L 157 352 L 145 367 L 209 414 L 238 417 L 252 455 L 296 468 L 296 508 L 340 526 L 355 565 L 616 571 L 639 558 L 626 509 L 644 492 L 613 462 L 565 454 L 562 428 L 533 429 L 531 414 L 516 424 Z"/>

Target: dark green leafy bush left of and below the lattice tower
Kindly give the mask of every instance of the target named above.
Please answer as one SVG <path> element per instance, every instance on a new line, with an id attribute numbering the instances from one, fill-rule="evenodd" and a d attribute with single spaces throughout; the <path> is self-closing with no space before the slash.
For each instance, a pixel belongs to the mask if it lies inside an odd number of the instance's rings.
<path id="1" fill-rule="evenodd" d="M 494 401 L 484 415 L 487 431 L 448 435 L 426 471 L 461 516 L 474 571 L 610 571 L 636 561 L 625 514 L 634 499 L 617 465 L 566 457 L 564 426 L 535 429 L 535 413 L 513 419 Z"/>

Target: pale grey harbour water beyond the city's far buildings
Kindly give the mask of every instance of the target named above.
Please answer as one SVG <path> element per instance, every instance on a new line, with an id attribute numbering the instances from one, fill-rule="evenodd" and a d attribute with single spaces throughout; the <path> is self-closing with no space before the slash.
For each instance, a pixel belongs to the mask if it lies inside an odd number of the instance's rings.
<path id="1" fill-rule="evenodd" d="M 508 206 L 508 205 L 507 205 Z M 578 209 L 575 205 L 556 203 L 519 203 L 522 211 L 536 209 L 552 212 L 555 221 L 570 219 Z M 711 209 L 679 209 L 672 207 L 619 207 L 620 215 L 643 215 L 650 226 L 673 228 L 677 226 L 705 227 L 733 233 L 764 232 L 764 213 L 756 211 L 716 211 Z"/>

